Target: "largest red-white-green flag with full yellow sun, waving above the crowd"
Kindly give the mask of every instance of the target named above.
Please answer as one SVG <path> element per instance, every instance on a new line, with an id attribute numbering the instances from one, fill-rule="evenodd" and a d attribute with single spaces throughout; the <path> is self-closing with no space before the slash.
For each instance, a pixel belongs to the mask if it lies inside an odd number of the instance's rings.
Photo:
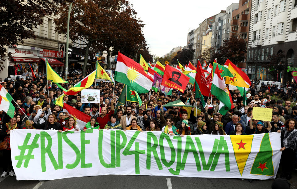
<path id="1" fill-rule="evenodd" d="M 140 93 L 149 92 L 153 85 L 153 79 L 145 73 L 143 67 L 120 52 L 118 52 L 114 80 Z"/>

